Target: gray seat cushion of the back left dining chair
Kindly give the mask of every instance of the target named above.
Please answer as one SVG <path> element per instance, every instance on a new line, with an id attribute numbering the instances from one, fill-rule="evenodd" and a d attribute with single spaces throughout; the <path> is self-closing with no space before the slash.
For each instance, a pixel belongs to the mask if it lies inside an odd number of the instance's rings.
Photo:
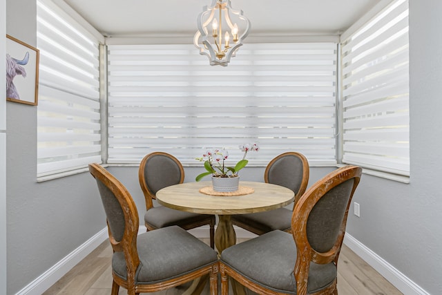
<path id="1" fill-rule="evenodd" d="M 210 217 L 211 215 L 184 212 L 159 205 L 146 211 L 144 221 L 160 229 L 171 225 L 187 225 L 190 222 Z"/>

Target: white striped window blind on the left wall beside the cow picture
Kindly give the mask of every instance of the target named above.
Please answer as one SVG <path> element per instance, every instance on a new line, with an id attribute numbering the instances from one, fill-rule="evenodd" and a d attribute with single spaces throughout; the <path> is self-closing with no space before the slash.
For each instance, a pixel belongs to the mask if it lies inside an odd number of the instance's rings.
<path id="1" fill-rule="evenodd" d="M 37 176 L 101 162 L 99 44 L 51 1 L 37 1 Z"/>

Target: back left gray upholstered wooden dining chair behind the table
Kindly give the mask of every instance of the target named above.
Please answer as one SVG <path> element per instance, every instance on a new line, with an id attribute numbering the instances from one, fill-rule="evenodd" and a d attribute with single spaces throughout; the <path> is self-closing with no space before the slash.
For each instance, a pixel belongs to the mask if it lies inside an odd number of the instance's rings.
<path id="1" fill-rule="evenodd" d="M 186 230 L 209 225 L 210 245 L 214 249 L 214 215 L 184 212 L 160 204 L 155 205 L 155 207 L 153 205 L 157 191 L 184 181 L 184 169 L 177 158 L 164 152 L 149 153 L 140 163 L 138 178 L 146 199 L 144 223 L 148 231 L 169 227 L 170 225 L 178 225 Z"/>

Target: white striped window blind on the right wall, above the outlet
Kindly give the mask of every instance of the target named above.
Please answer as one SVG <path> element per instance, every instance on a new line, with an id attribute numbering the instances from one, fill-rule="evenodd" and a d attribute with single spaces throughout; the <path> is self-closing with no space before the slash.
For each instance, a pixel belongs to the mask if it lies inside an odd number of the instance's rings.
<path id="1" fill-rule="evenodd" d="M 410 175 L 408 1 L 343 43 L 343 162 Z"/>

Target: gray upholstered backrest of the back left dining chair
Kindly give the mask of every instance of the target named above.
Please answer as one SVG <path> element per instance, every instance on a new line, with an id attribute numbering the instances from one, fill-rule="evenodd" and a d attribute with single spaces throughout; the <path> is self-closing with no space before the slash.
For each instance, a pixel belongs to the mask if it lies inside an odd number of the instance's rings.
<path id="1" fill-rule="evenodd" d="M 182 178 L 180 164 L 167 155 L 153 155 L 144 166 L 144 178 L 148 189 L 156 194 L 164 187 L 179 184 Z"/>

